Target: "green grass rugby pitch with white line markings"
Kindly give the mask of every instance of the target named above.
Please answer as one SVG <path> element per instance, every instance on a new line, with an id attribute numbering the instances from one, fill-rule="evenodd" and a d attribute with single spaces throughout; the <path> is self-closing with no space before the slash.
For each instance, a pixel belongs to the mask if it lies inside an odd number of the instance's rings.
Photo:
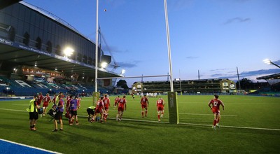
<path id="1" fill-rule="evenodd" d="M 167 106 L 163 123 L 157 122 L 155 98 L 149 99 L 148 118 L 141 118 L 138 96 L 135 100 L 127 96 L 123 118 L 131 120 L 117 122 L 111 107 L 107 123 L 87 123 L 83 116 L 92 105 L 92 98 L 87 97 L 78 110 L 80 125 L 70 126 L 64 118 L 63 132 L 52 132 L 54 125 L 46 117 L 39 118 L 38 130 L 32 132 L 25 111 L 29 100 L 1 101 L 0 138 L 59 153 L 279 153 L 279 97 L 220 96 L 225 111 L 216 132 L 210 127 L 214 116 L 207 105 L 212 97 L 179 96 L 179 125 L 167 123 Z M 114 97 L 110 99 L 113 102 Z"/>

